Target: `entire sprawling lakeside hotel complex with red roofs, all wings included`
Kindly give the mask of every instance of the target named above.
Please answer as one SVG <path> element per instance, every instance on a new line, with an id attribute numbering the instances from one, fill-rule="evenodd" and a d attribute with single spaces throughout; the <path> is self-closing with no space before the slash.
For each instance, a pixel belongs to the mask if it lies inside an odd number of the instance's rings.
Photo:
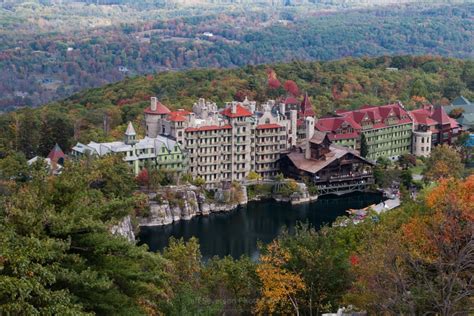
<path id="1" fill-rule="evenodd" d="M 408 111 L 400 102 L 318 119 L 308 95 L 301 102 L 293 96 L 259 105 L 245 99 L 222 108 L 199 99 L 191 111 L 171 111 L 152 97 L 144 115 L 144 139 L 129 123 L 123 141 L 78 143 L 73 155 L 120 154 L 135 173 L 187 172 L 210 186 L 243 181 L 250 171 L 263 178 L 283 172 L 309 177 L 326 191 L 344 191 L 370 184 L 377 158 L 427 156 L 459 132 L 443 107 Z"/>

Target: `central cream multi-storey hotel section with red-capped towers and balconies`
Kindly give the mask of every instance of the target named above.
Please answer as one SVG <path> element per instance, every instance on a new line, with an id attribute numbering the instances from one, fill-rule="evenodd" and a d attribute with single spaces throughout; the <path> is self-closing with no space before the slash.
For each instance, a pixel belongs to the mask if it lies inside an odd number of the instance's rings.
<path id="1" fill-rule="evenodd" d="M 161 134 L 179 142 L 187 153 L 188 172 L 208 184 L 244 180 L 250 171 L 276 175 L 278 161 L 296 145 L 297 119 L 284 103 L 268 101 L 217 105 L 200 99 L 192 112 L 170 111 L 156 98 L 145 109 L 147 136 Z"/>

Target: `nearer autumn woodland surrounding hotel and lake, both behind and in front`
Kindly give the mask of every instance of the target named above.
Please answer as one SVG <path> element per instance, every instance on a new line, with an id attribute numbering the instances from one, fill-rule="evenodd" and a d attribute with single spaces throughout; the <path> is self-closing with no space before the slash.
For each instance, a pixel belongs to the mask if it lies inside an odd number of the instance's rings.
<path id="1" fill-rule="evenodd" d="M 196 239 L 171 239 L 154 253 L 112 235 L 124 217 L 136 223 L 148 198 L 120 157 L 66 160 L 57 176 L 27 158 L 55 143 L 67 152 L 76 141 L 121 139 L 128 121 L 143 136 L 142 112 L 155 95 L 177 109 L 199 97 L 222 105 L 307 91 L 320 117 L 367 103 L 473 99 L 473 74 L 472 61 L 432 56 L 195 69 L 127 78 L 1 115 L 0 314 L 319 315 L 340 306 L 371 315 L 467 313 L 474 176 L 447 145 L 423 159 L 416 199 L 400 190 L 401 207 L 358 224 L 340 218 L 283 230 L 257 261 L 204 261 Z M 376 181 L 397 173 L 411 183 L 410 164 L 379 163 Z"/>

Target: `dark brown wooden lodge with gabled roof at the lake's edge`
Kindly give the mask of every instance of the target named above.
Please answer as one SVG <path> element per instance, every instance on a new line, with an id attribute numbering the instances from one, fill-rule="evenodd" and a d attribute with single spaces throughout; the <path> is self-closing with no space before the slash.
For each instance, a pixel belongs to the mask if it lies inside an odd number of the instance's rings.
<path id="1" fill-rule="evenodd" d="M 285 176 L 311 179 L 319 195 L 364 191 L 374 183 L 372 162 L 352 148 L 333 144 L 326 133 L 308 132 L 305 148 L 295 148 L 280 160 Z"/>

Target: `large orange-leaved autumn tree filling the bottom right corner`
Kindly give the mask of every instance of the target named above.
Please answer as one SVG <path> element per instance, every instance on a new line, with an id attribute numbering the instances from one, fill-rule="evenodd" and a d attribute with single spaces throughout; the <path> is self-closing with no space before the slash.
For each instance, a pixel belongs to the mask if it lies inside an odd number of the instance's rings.
<path id="1" fill-rule="evenodd" d="M 346 303 L 371 314 L 469 310 L 474 265 L 474 177 L 443 179 L 419 203 L 386 213 L 364 233 Z M 366 227 L 367 228 L 367 227 Z"/>

